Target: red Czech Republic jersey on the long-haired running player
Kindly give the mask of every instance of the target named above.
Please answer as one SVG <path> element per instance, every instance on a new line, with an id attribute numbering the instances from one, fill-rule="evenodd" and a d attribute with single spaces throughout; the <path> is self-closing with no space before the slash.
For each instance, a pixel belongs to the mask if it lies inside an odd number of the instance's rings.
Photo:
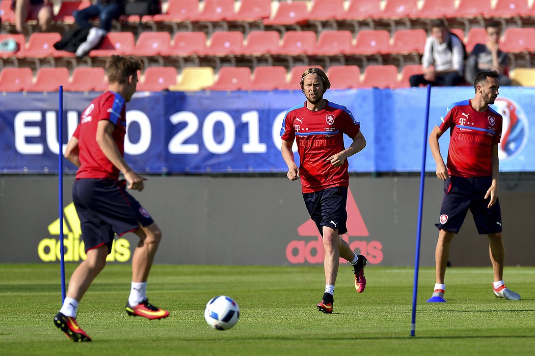
<path id="1" fill-rule="evenodd" d="M 354 138 L 360 129 L 345 106 L 328 101 L 319 111 L 309 110 L 306 103 L 288 110 L 280 136 L 284 141 L 297 137 L 303 193 L 349 185 L 347 160 L 334 167 L 327 158 L 345 149 L 343 134 Z"/>

